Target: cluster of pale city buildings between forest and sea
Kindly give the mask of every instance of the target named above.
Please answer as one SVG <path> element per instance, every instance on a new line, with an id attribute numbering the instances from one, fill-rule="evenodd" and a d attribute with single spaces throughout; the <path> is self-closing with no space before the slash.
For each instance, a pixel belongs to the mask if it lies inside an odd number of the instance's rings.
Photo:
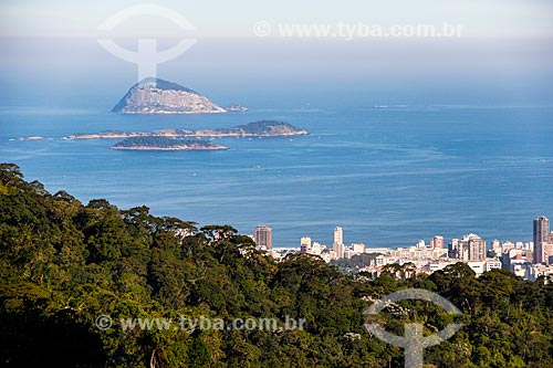
<path id="1" fill-rule="evenodd" d="M 467 263 L 477 275 L 483 272 L 505 269 L 525 280 L 536 280 L 540 275 L 553 274 L 553 232 L 550 233 L 549 220 L 539 215 L 533 221 L 532 242 L 511 242 L 493 239 L 490 243 L 478 234 L 467 233 L 461 238 L 451 238 L 445 246 L 442 235 L 434 235 L 427 244 L 419 240 L 414 245 L 399 248 L 371 248 L 362 242 L 344 242 L 344 229 L 335 227 L 332 245 L 325 245 L 303 235 L 300 248 L 278 248 L 269 254 L 279 261 L 293 253 L 307 253 L 320 256 L 327 263 L 340 260 L 351 260 L 356 255 L 368 254 L 369 264 L 363 269 L 375 276 L 379 275 L 389 264 L 414 264 L 413 274 L 417 272 L 432 273 L 457 262 Z M 501 236 L 499 236 L 501 238 Z M 489 245 L 488 245 L 489 244 Z M 539 253 L 540 252 L 540 253 Z M 542 254 L 541 256 L 536 253 Z M 375 254 L 379 254 L 376 255 Z"/>

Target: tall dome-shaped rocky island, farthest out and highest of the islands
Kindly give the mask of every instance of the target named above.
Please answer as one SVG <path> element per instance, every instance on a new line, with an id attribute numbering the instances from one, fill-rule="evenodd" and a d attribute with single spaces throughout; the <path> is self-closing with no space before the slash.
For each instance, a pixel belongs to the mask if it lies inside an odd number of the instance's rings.
<path id="1" fill-rule="evenodd" d="M 128 90 L 112 109 L 123 114 L 213 114 L 227 111 L 176 83 L 146 78 Z"/>

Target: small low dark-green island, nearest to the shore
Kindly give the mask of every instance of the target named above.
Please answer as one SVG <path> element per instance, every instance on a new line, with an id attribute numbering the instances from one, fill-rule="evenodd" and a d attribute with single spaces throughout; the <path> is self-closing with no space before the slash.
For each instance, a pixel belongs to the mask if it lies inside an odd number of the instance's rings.
<path id="1" fill-rule="evenodd" d="M 209 140 L 196 138 L 169 138 L 159 136 L 131 137 L 122 140 L 112 149 L 123 150 L 220 150 L 228 149 Z"/>

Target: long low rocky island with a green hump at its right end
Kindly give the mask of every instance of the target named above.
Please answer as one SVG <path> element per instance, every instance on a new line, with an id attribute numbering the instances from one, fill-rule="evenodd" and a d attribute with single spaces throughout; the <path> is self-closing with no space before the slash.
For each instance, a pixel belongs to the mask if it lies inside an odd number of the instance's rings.
<path id="1" fill-rule="evenodd" d="M 291 137 L 306 135 L 307 132 L 298 128 L 291 124 L 279 120 L 260 120 L 246 125 L 238 125 L 232 128 L 215 129 L 163 129 L 150 133 L 142 132 L 122 132 L 106 130 L 97 134 L 77 133 L 66 137 L 67 139 L 122 139 L 131 137 L 202 137 L 202 138 L 223 138 L 223 137 Z"/>

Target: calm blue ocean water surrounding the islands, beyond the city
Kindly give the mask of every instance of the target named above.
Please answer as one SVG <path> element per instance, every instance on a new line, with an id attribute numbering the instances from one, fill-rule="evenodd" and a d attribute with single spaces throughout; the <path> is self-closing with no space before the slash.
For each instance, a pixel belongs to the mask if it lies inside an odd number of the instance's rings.
<path id="1" fill-rule="evenodd" d="M 106 129 L 230 127 L 289 122 L 309 136 L 219 139 L 228 151 L 117 151 L 114 140 L 61 137 Z M 22 136 L 53 139 L 12 141 Z M 124 116 L 95 109 L 2 107 L 0 161 L 86 202 L 147 204 L 157 215 L 273 228 L 274 246 L 302 235 L 406 246 L 441 234 L 530 241 L 553 217 L 553 108 L 353 106 Z"/>

